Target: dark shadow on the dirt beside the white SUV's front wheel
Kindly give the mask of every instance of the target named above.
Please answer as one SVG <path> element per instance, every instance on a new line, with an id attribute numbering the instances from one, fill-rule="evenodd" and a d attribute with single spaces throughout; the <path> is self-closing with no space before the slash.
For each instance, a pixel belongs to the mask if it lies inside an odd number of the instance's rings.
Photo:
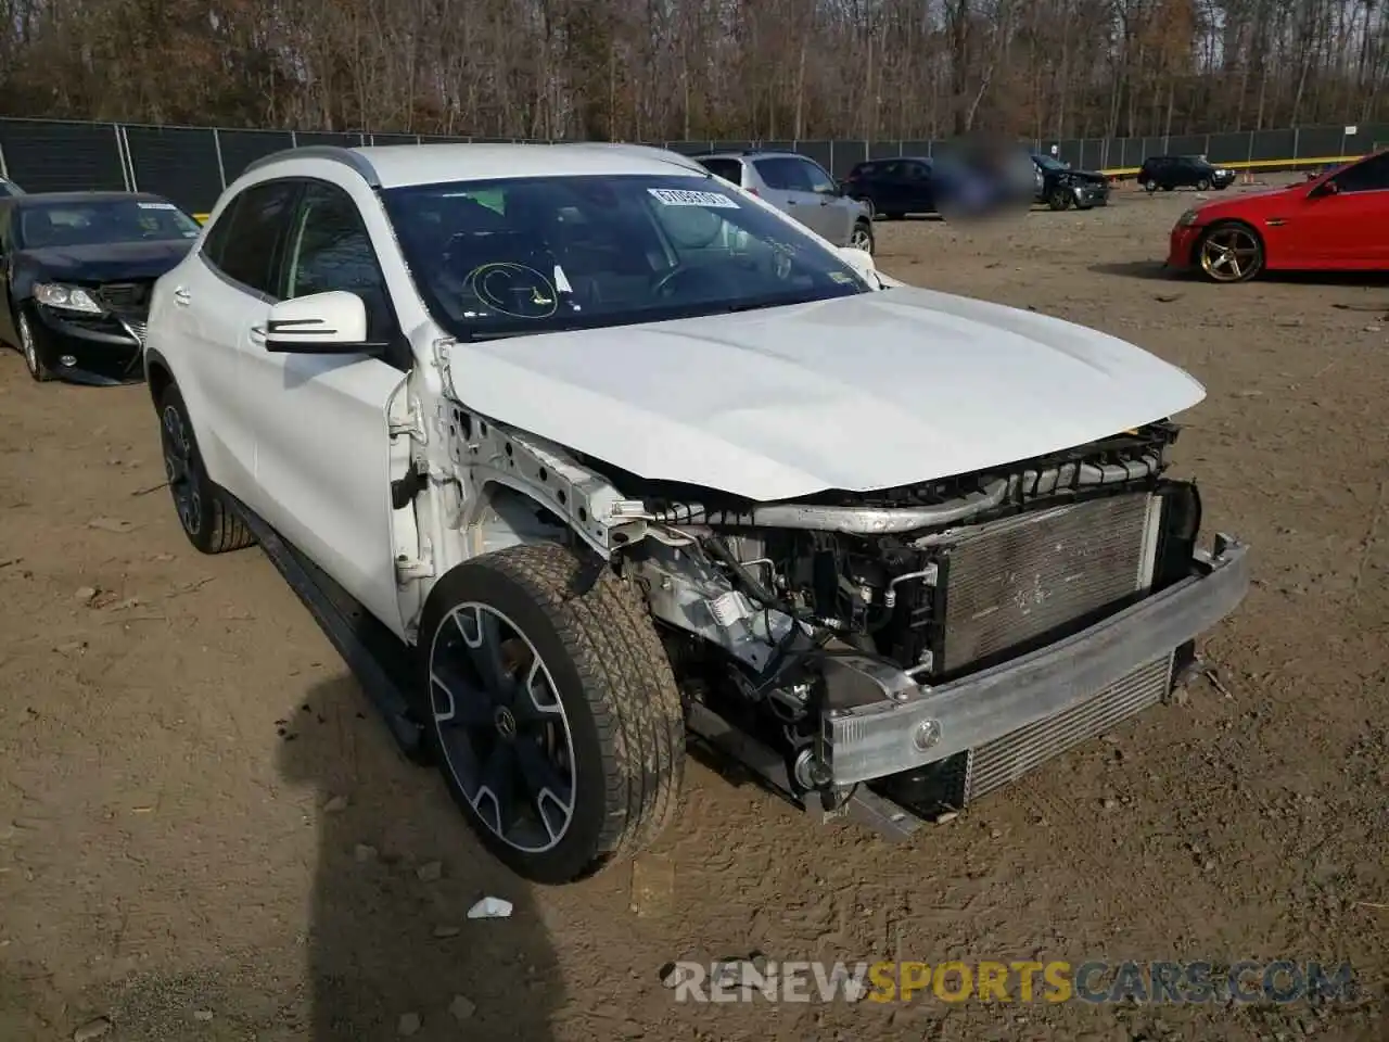
<path id="1" fill-rule="evenodd" d="M 311 1042 L 553 1038 L 563 979 L 529 885 L 468 831 L 350 677 L 281 722 L 279 770 L 315 791 Z M 468 918 L 483 896 L 510 917 Z"/>

